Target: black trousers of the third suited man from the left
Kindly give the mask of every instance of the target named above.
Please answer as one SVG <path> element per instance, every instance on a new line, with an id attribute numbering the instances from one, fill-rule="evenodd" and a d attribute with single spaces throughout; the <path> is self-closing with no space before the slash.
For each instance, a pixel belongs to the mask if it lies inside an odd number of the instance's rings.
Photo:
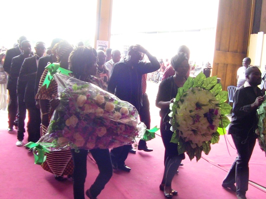
<path id="1" fill-rule="evenodd" d="M 40 109 L 38 109 L 35 104 L 26 103 L 26 108 L 28 110 L 28 141 L 37 142 L 40 139 Z"/>

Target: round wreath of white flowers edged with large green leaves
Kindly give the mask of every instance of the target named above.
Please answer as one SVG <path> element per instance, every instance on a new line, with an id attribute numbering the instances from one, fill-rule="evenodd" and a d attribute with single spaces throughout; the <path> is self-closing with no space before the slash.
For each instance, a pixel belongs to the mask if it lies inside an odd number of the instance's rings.
<path id="1" fill-rule="evenodd" d="M 178 144 L 179 154 L 186 152 L 190 160 L 196 157 L 197 161 L 202 151 L 209 154 L 211 144 L 219 142 L 230 123 L 226 115 L 232 107 L 227 98 L 217 76 L 206 78 L 202 72 L 178 89 L 169 116 L 174 132 L 171 142 Z"/>

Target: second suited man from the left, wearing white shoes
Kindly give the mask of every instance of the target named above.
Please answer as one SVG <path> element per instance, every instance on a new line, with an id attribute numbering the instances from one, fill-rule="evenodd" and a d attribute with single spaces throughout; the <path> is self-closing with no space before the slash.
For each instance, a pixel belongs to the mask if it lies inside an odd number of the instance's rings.
<path id="1" fill-rule="evenodd" d="M 20 68 L 25 58 L 31 57 L 31 45 L 28 40 L 21 42 L 22 53 L 12 59 L 11 68 L 10 68 L 10 77 L 18 78 Z M 22 140 L 25 132 L 25 118 L 26 118 L 26 105 L 24 102 L 24 91 L 25 91 L 25 82 L 17 80 L 17 101 L 18 101 L 18 129 L 17 129 L 17 139 L 16 146 L 22 146 Z"/>

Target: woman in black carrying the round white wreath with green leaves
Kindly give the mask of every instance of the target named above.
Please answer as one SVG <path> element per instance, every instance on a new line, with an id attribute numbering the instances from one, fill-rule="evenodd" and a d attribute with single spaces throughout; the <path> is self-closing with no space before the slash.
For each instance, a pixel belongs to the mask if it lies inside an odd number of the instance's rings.
<path id="1" fill-rule="evenodd" d="M 156 98 L 156 106 L 161 108 L 160 130 L 165 147 L 165 168 L 163 180 L 160 185 L 160 190 L 164 191 L 166 198 L 171 199 L 173 195 L 177 195 L 177 191 L 172 189 L 172 180 L 182 160 L 185 159 L 185 154 L 178 154 L 177 144 L 170 142 L 173 132 L 170 130 L 169 123 L 170 113 L 169 105 L 176 98 L 178 88 L 183 87 L 187 80 L 189 63 L 187 54 L 180 52 L 171 59 L 171 65 L 175 70 L 175 75 L 161 82 Z"/>

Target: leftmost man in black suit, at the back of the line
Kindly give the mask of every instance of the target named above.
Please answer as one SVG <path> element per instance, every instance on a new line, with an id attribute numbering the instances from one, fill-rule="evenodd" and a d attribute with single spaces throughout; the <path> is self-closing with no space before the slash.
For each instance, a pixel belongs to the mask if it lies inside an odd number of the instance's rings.
<path id="1" fill-rule="evenodd" d="M 16 83 L 17 78 L 10 76 L 11 62 L 13 57 L 16 57 L 21 54 L 21 42 L 26 40 L 25 36 L 19 37 L 17 40 L 18 46 L 10 48 L 7 50 L 5 55 L 5 60 L 3 63 L 3 69 L 7 73 L 7 90 L 9 93 L 9 102 L 8 102 L 8 131 L 13 131 L 13 126 L 17 126 L 16 114 L 17 114 L 17 95 L 16 95 Z"/>

